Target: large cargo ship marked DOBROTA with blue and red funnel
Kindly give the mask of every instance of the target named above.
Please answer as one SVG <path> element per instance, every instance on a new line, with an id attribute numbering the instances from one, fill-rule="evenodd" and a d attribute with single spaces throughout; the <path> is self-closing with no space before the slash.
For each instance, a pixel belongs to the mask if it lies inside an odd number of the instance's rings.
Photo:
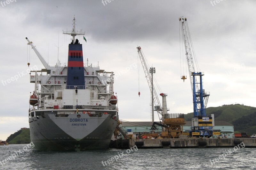
<path id="1" fill-rule="evenodd" d="M 38 151 L 85 151 L 107 149 L 118 119 L 114 72 L 101 70 L 83 60 L 82 44 L 75 39 L 85 32 L 63 31 L 72 36 L 68 63 L 50 66 L 28 40 L 44 65 L 30 71 L 35 84 L 29 98 L 30 139 Z M 86 41 L 86 39 L 84 38 Z M 29 63 L 28 63 L 29 66 Z"/>

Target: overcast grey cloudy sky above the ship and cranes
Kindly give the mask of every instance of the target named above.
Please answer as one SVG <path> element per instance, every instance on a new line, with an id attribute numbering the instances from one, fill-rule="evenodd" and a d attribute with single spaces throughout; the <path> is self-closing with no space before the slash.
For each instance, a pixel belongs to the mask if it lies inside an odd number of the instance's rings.
<path id="1" fill-rule="evenodd" d="M 156 68 L 154 76 L 168 94 L 169 113 L 193 111 L 190 81 L 180 79 L 180 16 L 188 19 L 198 65 L 205 74 L 204 89 L 211 93 L 207 107 L 256 106 L 256 1 L 108 1 L 2 1 L 0 139 L 29 127 L 28 100 L 34 85 L 29 83 L 27 69 L 44 68 L 25 37 L 55 65 L 59 36 L 59 59 L 65 63 L 71 36 L 64 36 L 62 30 L 72 29 L 74 15 L 76 29 L 83 29 L 87 39 L 85 43 L 82 36 L 77 37 L 84 44 L 84 62 L 88 58 L 92 65 L 99 62 L 100 69 L 115 72 L 120 119 L 150 121 L 150 90 L 141 63 L 138 96 L 137 46 Z M 181 58 L 183 63 L 184 56 Z M 7 82 L 15 76 L 17 80 Z M 159 99 L 162 102 L 161 96 Z M 155 121 L 157 118 L 155 113 Z"/>

